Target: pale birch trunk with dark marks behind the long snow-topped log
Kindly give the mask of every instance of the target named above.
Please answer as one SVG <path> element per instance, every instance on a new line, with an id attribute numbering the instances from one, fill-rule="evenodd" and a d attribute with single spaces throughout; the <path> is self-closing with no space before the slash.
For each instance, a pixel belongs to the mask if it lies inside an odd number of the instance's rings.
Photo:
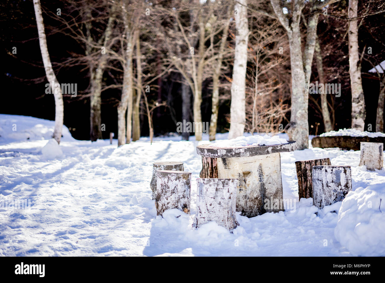
<path id="1" fill-rule="evenodd" d="M 358 25 L 357 25 L 358 0 L 349 0 L 349 74 L 350 88 L 352 90 L 352 129 L 364 131 L 365 127 L 365 99 L 362 89 L 360 70 L 360 56 L 358 53 Z"/>

